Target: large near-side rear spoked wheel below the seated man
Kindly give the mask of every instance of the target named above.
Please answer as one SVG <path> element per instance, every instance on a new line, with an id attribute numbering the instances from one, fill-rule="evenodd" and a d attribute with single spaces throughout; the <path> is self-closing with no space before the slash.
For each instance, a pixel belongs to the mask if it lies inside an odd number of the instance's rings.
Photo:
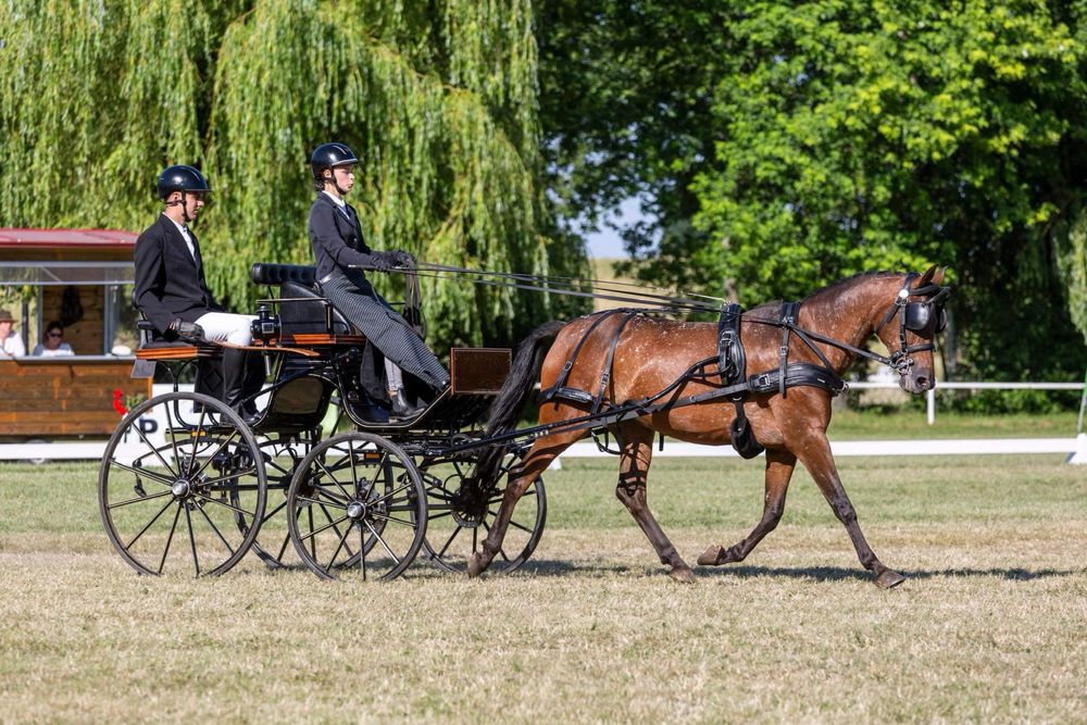
<path id="1" fill-rule="evenodd" d="M 226 572 L 252 546 L 264 517 L 266 479 L 257 451 L 249 427 L 214 398 L 167 392 L 140 403 L 113 432 L 99 471 L 110 541 L 141 574 Z"/>

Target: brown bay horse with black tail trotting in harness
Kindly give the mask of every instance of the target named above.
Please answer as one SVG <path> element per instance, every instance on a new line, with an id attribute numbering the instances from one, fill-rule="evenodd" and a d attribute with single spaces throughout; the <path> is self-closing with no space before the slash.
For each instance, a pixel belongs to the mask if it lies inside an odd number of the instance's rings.
<path id="1" fill-rule="evenodd" d="M 933 339 L 942 328 L 942 304 L 949 291 L 940 286 L 944 273 L 945 270 L 936 267 L 920 278 L 912 273 L 866 273 L 814 292 L 801 301 L 792 329 L 798 337 L 807 337 L 807 343 L 800 345 L 794 338 L 791 345 L 785 345 L 788 348 L 786 358 L 789 362 L 829 366 L 835 376 L 840 376 L 858 354 L 863 354 L 891 365 L 900 375 L 899 385 L 909 392 L 922 393 L 933 388 Z M 742 314 L 739 337 L 749 372 L 778 367 L 783 347 L 780 311 L 784 310 L 783 303 L 776 302 Z M 521 343 L 510 376 L 491 409 L 488 435 L 509 432 L 515 425 L 533 391 L 540 349 L 550 337 L 557 336 L 540 370 L 541 390 L 555 385 L 563 375 L 563 367 L 569 366 L 567 362 L 573 363 L 563 378 L 567 389 L 596 391 L 603 388 L 607 402 L 612 405 L 653 397 L 677 380 L 682 386 L 678 396 L 683 398 L 713 389 L 704 377 L 683 378 L 692 365 L 717 354 L 716 324 L 644 315 L 621 321 L 613 315 L 595 325 L 601 314 L 569 323 L 546 323 Z M 896 317 L 898 324 L 891 324 Z M 889 358 L 862 349 L 873 335 L 890 351 Z M 580 352 L 572 355 L 578 345 Z M 612 357 L 611 370 L 607 371 L 605 360 Z M 824 359 L 820 360 L 821 357 Z M 800 461 L 845 525 L 861 564 L 875 575 L 875 584 L 888 588 L 902 583 L 904 577 L 884 565 L 865 541 L 857 512 L 841 485 L 826 437 L 830 398 L 827 389 L 800 386 L 789 388 L 784 396 L 775 389 L 750 395 L 742 403 L 737 403 L 742 404 L 755 440 L 765 448 L 763 514 L 746 538 L 727 549 L 709 547 L 698 558 L 698 564 L 716 566 L 740 562 L 751 553 L 780 521 L 789 479 Z M 539 421 L 541 425 L 562 423 L 584 417 L 590 409 L 590 403 L 584 400 L 554 398 L 541 404 Z M 652 461 L 654 435 L 662 433 L 678 440 L 721 446 L 730 442 L 729 424 L 735 416 L 734 403 L 717 398 L 657 410 L 610 426 L 621 449 L 615 495 L 649 538 L 661 563 L 669 566 L 672 578 L 678 582 L 694 582 L 694 574 L 647 505 L 646 478 Z M 480 550 L 468 561 L 468 576 L 483 573 L 501 550 L 513 509 L 529 484 L 571 443 L 587 435 L 589 430 L 585 427 L 563 429 L 560 425 L 533 442 L 524 460 L 510 473 L 490 532 Z"/>

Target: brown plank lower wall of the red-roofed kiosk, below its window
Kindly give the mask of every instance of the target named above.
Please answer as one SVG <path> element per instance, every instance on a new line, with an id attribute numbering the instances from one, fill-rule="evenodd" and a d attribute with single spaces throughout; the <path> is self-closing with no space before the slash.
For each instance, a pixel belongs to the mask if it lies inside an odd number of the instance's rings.
<path id="1" fill-rule="evenodd" d="M 141 400 L 151 396 L 151 380 L 128 377 L 132 366 L 130 360 L 0 360 L 0 437 L 112 434 L 121 423 L 115 389 Z"/>

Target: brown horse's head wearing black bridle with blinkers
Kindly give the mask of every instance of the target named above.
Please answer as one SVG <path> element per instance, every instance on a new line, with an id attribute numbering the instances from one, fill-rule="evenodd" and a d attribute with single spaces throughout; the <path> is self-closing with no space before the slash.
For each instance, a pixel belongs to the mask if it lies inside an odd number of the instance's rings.
<path id="1" fill-rule="evenodd" d="M 907 392 L 924 392 L 936 387 L 933 362 L 936 334 L 947 325 L 950 287 L 942 287 L 945 268 L 935 266 L 921 275 L 905 275 L 902 287 L 888 303 L 877 323 L 876 336 L 890 351 L 890 365 L 901 376 L 898 384 Z"/>

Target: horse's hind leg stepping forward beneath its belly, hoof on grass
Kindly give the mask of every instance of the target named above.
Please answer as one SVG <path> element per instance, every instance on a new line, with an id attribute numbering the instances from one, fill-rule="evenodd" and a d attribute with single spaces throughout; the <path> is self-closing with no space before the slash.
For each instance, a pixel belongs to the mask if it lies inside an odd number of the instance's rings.
<path id="1" fill-rule="evenodd" d="M 672 578 L 676 582 L 692 583 L 695 575 L 691 574 L 690 566 L 679 557 L 679 552 L 649 510 L 646 476 L 653 457 L 653 432 L 639 425 L 627 424 L 620 426 L 619 438 L 622 441 L 623 452 L 619 484 L 615 486 L 616 498 L 638 522 L 638 526 L 657 550 L 657 555 L 661 558 L 661 563 L 672 567 L 669 572 Z"/>

